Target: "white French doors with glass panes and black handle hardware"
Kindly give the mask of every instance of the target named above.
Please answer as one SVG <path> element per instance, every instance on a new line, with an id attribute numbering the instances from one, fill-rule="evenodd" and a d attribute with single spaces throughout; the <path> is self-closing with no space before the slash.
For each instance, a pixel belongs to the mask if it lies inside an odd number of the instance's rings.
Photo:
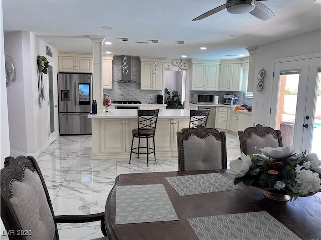
<path id="1" fill-rule="evenodd" d="M 275 63 L 270 125 L 283 146 L 321 156 L 321 58 Z"/>

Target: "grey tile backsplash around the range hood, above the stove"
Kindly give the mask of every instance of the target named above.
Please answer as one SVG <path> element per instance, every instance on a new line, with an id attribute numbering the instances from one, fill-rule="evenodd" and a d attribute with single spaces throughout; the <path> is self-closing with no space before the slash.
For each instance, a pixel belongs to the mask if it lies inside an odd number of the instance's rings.
<path id="1" fill-rule="evenodd" d="M 138 56 L 132 56 L 132 77 L 133 81 L 140 80 L 140 59 Z M 157 95 L 162 91 L 141 90 L 139 83 L 120 83 L 121 80 L 121 56 L 114 56 L 112 60 L 112 89 L 104 89 L 103 93 L 108 95 L 111 100 L 117 101 L 141 101 L 141 103 L 156 103 Z M 152 95 L 152 100 L 149 98 Z"/>

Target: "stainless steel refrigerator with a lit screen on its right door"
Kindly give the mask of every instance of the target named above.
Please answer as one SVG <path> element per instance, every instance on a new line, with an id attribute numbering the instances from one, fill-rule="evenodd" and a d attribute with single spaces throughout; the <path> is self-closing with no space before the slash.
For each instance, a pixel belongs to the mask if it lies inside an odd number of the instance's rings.
<path id="1" fill-rule="evenodd" d="M 92 75 L 58 73 L 60 135 L 92 134 Z"/>

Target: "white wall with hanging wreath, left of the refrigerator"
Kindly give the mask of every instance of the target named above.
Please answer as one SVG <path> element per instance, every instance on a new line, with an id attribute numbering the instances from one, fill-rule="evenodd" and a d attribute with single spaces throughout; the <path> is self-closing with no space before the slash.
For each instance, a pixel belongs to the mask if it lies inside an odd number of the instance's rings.
<path id="1" fill-rule="evenodd" d="M 11 32 L 4 36 L 5 53 L 16 65 L 17 80 L 7 88 L 11 155 L 38 156 L 49 145 L 48 77 L 44 75 L 46 101 L 38 105 L 37 56 L 46 56 L 58 66 L 58 52 L 31 32 Z M 47 56 L 46 46 L 54 58 Z M 57 84 L 57 67 L 54 67 Z"/>

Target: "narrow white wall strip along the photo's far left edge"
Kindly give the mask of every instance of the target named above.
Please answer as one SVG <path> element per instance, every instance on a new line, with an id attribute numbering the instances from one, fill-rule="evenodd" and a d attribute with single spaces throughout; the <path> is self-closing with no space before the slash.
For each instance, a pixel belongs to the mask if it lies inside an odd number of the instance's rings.
<path id="1" fill-rule="evenodd" d="M 0 1 L 0 12 L 2 12 L 2 1 Z M 5 70 L 5 49 L 3 34 L 3 19 L 0 17 L 0 162 L 4 166 L 4 159 L 10 156 L 9 145 L 9 125 L 7 109 L 7 88 L 6 88 L 6 70 Z M 2 228 L 4 229 L 4 228 Z"/>

